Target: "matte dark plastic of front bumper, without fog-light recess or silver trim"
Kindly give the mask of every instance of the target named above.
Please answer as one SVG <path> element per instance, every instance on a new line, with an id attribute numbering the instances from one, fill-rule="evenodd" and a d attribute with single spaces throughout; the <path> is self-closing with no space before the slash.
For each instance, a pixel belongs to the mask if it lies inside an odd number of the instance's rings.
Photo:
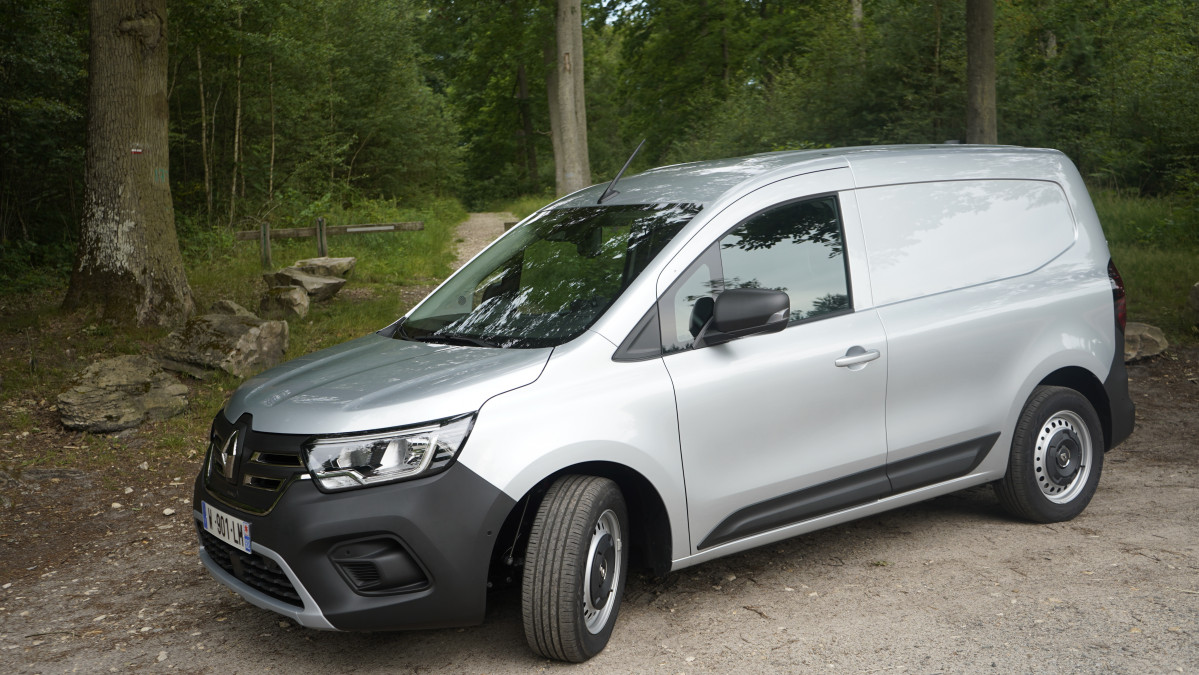
<path id="1" fill-rule="evenodd" d="M 212 501 L 203 480 L 195 502 Z M 271 513 L 234 510 L 254 546 L 287 562 L 319 613 L 339 631 L 470 626 L 483 620 L 495 535 L 516 501 L 460 464 L 427 480 L 326 494 L 297 481 Z M 198 508 L 198 506 L 197 506 Z M 367 596 L 338 572 L 330 550 L 364 537 L 394 537 L 428 572 L 411 592 Z M 236 589 L 235 589 L 236 590 Z"/>

